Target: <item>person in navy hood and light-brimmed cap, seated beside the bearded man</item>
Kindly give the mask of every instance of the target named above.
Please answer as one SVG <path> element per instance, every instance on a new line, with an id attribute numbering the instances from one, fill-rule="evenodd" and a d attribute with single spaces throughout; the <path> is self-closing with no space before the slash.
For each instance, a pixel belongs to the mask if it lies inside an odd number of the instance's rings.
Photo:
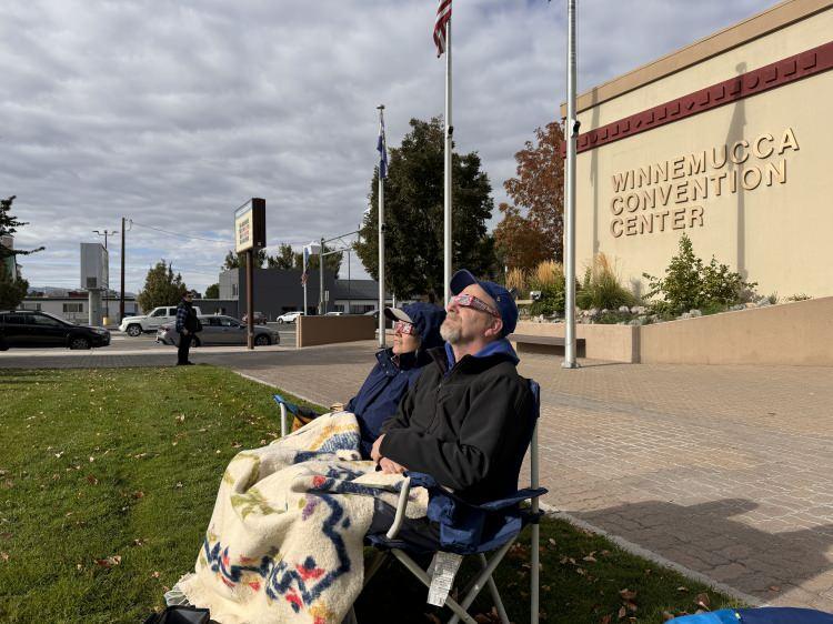
<path id="1" fill-rule="evenodd" d="M 375 366 L 359 394 L 344 407 L 359 420 L 365 459 L 370 459 L 382 424 L 397 413 L 400 400 L 429 363 L 425 352 L 443 343 L 440 325 L 445 320 L 445 310 L 439 305 L 412 303 L 402 309 L 387 308 L 384 315 L 393 321 L 393 346 L 377 353 Z"/>

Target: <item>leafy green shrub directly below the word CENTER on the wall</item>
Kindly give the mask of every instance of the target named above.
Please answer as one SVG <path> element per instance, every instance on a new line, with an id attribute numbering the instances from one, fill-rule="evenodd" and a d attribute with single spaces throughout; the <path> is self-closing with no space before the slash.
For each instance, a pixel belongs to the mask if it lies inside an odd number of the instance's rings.
<path id="1" fill-rule="evenodd" d="M 679 253 L 671 259 L 665 276 L 654 278 L 648 273 L 643 276 L 649 281 L 646 299 L 660 298 L 651 302 L 652 310 L 666 314 L 741 303 L 757 285 L 745 282 L 740 273 L 730 271 L 714 256 L 709 264 L 703 264 L 685 234 L 680 238 Z"/>

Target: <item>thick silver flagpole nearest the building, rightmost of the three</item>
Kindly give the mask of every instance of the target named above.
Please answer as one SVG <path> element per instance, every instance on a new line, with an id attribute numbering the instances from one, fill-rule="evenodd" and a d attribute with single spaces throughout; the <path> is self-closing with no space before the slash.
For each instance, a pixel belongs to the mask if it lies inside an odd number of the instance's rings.
<path id="1" fill-rule="evenodd" d="M 564 249 L 564 369 L 578 369 L 575 362 L 575 0 L 566 1 L 566 174 L 564 175 L 565 249 Z"/>

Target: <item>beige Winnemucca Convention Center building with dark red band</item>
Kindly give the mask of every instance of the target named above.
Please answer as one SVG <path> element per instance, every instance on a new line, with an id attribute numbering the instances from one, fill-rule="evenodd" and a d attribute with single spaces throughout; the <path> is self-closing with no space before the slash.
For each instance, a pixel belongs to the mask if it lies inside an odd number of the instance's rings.
<path id="1" fill-rule="evenodd" d="M 583 93 L 580 274 L 603 252 L 644 292 L 688 234 L 761 294 L 833 295 L 832 69 L 833 2 L 789 0 Z"/>

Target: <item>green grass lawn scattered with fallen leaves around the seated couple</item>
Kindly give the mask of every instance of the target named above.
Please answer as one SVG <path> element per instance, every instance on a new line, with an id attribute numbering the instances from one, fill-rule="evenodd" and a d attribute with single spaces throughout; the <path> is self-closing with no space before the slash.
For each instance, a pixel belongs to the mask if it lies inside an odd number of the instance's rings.
<path id="1" fill-rule="evenodd" d="M 138 622 L 160 607 L 193 566 L 225 464 L 280 430 L 268 388 L 212 366 L 0 371 L 0 397 L 9 623 Z M 662 622 L 664 611 L 693 612 L 706 592 L 564 522 L 545 521 L 542 535 L 543 622 Z M 519 623 L 529 620 L 526 551 L 515 548 L 501 575 Z M 397 585 L 405 590 L 394 600 Z M 636 592 L 635 611 L 622 590 Z M 707 594 L 713 608 L 732 604 Z M 360 621 L 448 618 L 424 596 L 402 574 L 380 574 Z"/>

